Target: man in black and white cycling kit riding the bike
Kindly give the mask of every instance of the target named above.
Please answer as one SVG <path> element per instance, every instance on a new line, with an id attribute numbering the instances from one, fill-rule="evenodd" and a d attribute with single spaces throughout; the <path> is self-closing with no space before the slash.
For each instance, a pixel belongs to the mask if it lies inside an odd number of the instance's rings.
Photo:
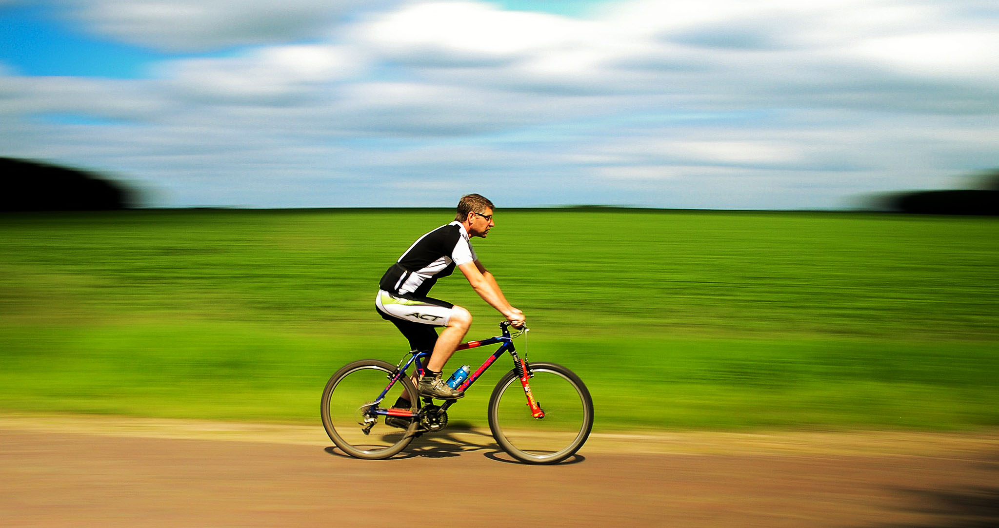
<path id="1" fill-rule="evenodd" d="M 418 239 L 382 276 L 375 297 L 379 313 L 396 324 L 414 350 L 434 350 L 419 383 L 421 395 L 438 399 L 465 395 L 448 386 L 441 372 L 469 331 L 472 314 L 462 306 L 428 296 L 438 278 L 450 275 L 457 266 L 476 293 L 514 327 L 523 326 L 523 312 L 509 304 L 470 242 L 472 237 L 485 239 L 496 226 L 493 208 L 493 203 L 481 195 L 462 197 L 454 222 Z M 438 335 L 440 326 L 444 329 Z M 395 406 L 409 408 L 410 402 L 401 397 Z"/>

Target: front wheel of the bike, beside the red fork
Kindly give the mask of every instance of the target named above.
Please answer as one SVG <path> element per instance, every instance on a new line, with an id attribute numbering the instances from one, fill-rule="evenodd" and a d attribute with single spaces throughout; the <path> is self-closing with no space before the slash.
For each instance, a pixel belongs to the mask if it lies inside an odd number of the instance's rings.
<path id="1" fill-rule="evenodd" d="M 593 400 L 571 370 L 555 363 L 528 363 L 534 418 L 515 370 L 503 374 L 490 398 L 489 421 L 503 451 L 528 464 L 553 464 L 572 456 L 593 427 Z"/>

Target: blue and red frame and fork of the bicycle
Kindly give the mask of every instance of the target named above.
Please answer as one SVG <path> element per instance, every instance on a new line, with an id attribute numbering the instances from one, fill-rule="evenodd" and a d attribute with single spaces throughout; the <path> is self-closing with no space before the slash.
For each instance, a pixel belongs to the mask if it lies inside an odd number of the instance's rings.
<path id="1" fill-rule="evenodd" d="M 520 384 L 523 386 L 523 393 L 527 398 L 527 406 L 530 407 L 530 415 L 538 419 L 543 418 L 544 411 L 534 400 L 534 396 L 530 392 L 529 379 L 531 374 L 529 368 L 527 368 L 527 361 L 521 358 L 519 355 L 517 355 L 516 349 L 513 347 L 513 336 L 511 336 L 509 333 L 509 326 L 510 326 L 509 321 L 502 321 L 500 322 L 500 329 L 502 330 L 502 335 L 497 335 L 495 337 L 490 337 L 488 339 L 482 339 L 478 341 L 468 341 L 458 345 L 456 351 L 468 350 L 470 348 L 478 348 L 480 346 L 489 346 L 491 344 L 500 343 L 500 347 L 497 348 L 496 351 L 494 351 L 489 357 L 487 357 L 486 361 L 483 362 L 483 364 L 480 365 L 475 372 L 469 374 L 468 379 L 463 381 L 458 388 L 459 390 L 462 391 L 468 390 L 468 388 L 471 387 L 476 382 L 476 380 L 479 379 L 479 377 L 482 376 L 483 373 L 489 370 L 490 366 L 492 366 L 493 363 L 495 363 L 496 360 L 500 358 L 500 355 L 502 355 L 503 353 L 508 353 L 510 357 L 513 359 L 513 369 L 516 371 L 517 377 L 520 378 Z M 410 353 L 413 355 L 410 357 L 408 361 L 406 361 L 406 364 L 403 364 L 402 366 L 397 365 L 398 368 L 396 373 L 389 378 L 389 385 L 386 386 L 384 390 L 382 390 L 381 394 L 379 394 L 378 398 L 375 400 L 375 405 L 378 405 L 379 403 L 382 402 L 383 399 L 385 399 L 386 394 L 389 392 L 390 389 L 392 389 L 393 385 L 395 385 L 397 381 L 399 381 L 400 379 L 403 378 L 403 376 L 406 375 L 406 371 L 409 370 L 410 366 L 413 365 L 414 363 L 416 364 L 417 372 L 420 373 L 421 375 L 424 374 L 425 372 L 424 360 L 430 359 L 432 351 L 431 350 L 424 350 L 419 352 L 412 351 Z M 400 364 L 402 364 L 402 361 L 400 361 Z M 441 405 L 440 409 L 447 410 L 456 401 L 457 400 L 453 399 L 447 400 L 443 405 Z M 377 407 L 374 410 L 374 412 L 375 414 L 382 414 L 386 416 L 403 416 L 409 418 L 412 417 L 419 418 L 423 416 L 422 409 L 417 412 L 413 412 L 409 409 L 395 409 L 395 408 L 385 409 L 382 407 Z"/>

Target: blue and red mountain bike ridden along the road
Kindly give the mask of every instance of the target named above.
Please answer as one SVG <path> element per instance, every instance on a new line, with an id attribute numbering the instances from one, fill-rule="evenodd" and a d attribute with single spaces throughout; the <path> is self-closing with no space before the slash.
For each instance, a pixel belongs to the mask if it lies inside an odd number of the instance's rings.
<path id="1" fill-rule="evenodd" d="M 582 447 L 593 426 L 593 401 L 579 376 L 564 366 L 528 362 L 517 355 L 509 321 L 500 322 L 501 334 L 469 341 L 458 350 L 491 344 L 500 347 L 458 385 L 467 391 L 504 353 L 513 368 L 493 389 L 488 419 L 493 437 L 503 451 L 528 464 L 553 464 Z M 420 396 L 407 370 L 423 375 L 431 350 L 411 350 L 397 364 L 361 359 L 345 365 L 327 382 L 320 414 L 330 439 L 345 453 L 368 459 L 389 458 L 414 438 L 448 426 L 448 409 L 458 400 Z M 405 395 L 409 408 L 394 408 Z"/>

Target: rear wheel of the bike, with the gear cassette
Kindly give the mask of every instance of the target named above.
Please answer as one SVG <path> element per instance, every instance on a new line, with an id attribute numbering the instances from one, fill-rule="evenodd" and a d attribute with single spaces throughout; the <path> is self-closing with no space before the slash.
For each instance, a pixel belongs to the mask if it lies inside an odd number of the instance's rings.
<path id="1" fill-rule="evenodd" d="M 356 458 L 389 458 L 413 441 L 418 425 L 416 420 L 408 429 L 401 429 L 388 425 L 385 416 L 367 412 L 367 407 L 385 389 L 395 372 L 396 365 L 388 361 L 361 359 L 344 365 L 330 377 L 323 389 L 320 416 L 326 433 L 341 451 Z M 388 408 L 403 393 L 412 403 L 410 410 L 416 412 L 417 387 L 409 376 L 397 381 L 378 405 Z M 367 432 L 364 420 L 370 420 Z"/>

